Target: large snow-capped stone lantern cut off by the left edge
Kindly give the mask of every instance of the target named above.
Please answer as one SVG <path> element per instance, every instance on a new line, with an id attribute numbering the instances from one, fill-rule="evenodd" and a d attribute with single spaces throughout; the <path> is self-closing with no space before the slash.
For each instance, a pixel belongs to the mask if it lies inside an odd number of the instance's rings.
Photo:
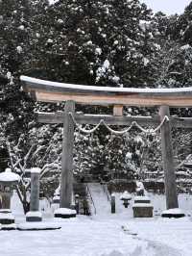
<path id="1" fill-rule="evenodd" d="M 6 168 L 0 173 L 0 194 L 2 198 L 2 209 L 0 210 L 0 223 L 12 224 L 14 217 L 11 212 L 11 197 L 14 186 L 18 184 L 20 176 L 13 173 L 11 168 Z"/>

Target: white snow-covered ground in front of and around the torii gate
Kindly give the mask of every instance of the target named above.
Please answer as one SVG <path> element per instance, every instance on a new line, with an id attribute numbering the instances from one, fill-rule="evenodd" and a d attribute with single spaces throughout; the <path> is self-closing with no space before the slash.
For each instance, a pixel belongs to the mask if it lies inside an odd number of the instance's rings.
<path id="1" fill-rule="evenodd" d="M 164 209 L 162 195 L 149 194 L 155 211 Z M 192 221 L 190 217 L 165 219 L 132 218 L 132 208 L 122 207 L 116 193 L 114 215 L 79 216 L 60 221 L 55 231 L 0 231 L 3 256 L 191 256 Z M 17 222 L 23 222 L 21 207 L 12 200 Z M 180 205 L 191 214 L 192 196 L 181 194 Z M 156 212 L 156 215 L 157 215 Z"/>

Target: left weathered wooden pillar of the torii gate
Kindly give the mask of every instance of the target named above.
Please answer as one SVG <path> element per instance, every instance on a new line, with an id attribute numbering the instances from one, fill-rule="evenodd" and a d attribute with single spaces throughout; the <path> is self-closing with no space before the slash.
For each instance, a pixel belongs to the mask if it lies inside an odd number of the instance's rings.
<path id="1" fill-rule="evenodd" d="M 74 101 L 66 101 L 62 141 L 60 208 L 70 208 L 73 191 L 74 123 L 69 113 L 75 113 Z"/>

